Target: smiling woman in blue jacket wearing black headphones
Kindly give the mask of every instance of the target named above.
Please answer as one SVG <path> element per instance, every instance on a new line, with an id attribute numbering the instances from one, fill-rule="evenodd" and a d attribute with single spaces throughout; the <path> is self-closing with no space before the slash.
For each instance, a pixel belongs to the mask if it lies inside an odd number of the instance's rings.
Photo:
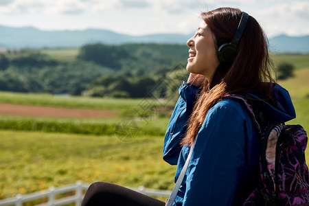
<path id="1" fill-rule="evenodd" d="M 218 8 L 201 17 L 196 34 L 187 41 L 190 76 L 179 89 L 163 159 L 177 165 L 176 180 L 192 146 L 175 205 L 242 205 L 258 185 L 259 139 L 242 102 L 225 95 L 247 93 L 268 102 L 265 109 L 271 113 L 270 123 L 293 119 L 295 111 L 288 92 L 269 83 L 273 82 L 271 60 L 258 22 L 247 16 L 239 37 L 240 10 Z M 218 50 L 231 41 L 236 49 L 222 59 Z M 91 185 L 82 205 L 104 205 L 108 196 L 113 205 L 121 205 L 116 202 L 122 200 L 124 205 L 164 205 L 109 183 Z"/>

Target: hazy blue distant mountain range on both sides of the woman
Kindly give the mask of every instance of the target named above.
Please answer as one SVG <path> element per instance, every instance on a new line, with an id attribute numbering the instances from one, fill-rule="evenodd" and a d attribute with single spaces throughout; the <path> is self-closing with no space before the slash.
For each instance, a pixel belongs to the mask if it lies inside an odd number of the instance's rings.
<path id="1" fill-rule="evenodd" d="M 89 43 L 172 43 L 185 44 L 191 35 L 152 34 L 131 36 L 109 30 L 42 31 L 34 27 L 6 27 L 0 25 L 0 47 L 34 48 L 80 47 Z M 272 52 L 309 53 L 309 36 L 279 35 L 269 39 Z"/>

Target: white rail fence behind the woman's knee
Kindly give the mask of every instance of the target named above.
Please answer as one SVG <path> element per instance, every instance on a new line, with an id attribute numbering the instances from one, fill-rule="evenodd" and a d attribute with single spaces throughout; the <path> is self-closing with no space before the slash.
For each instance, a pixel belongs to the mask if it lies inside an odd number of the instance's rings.
<path id="1" fill-rule="evenodd" d="M 50 187 L 49 190 L 43 190 L 41 192 L 25 194 L 25 195 L 18 194 L 14 198 L 0 200 L 0 206 L 4 205 L 23 206 L 23 203 L 36 201 L 43 198 L 47 198 L 48 200 L 45 203 L 40 203 L 39 206 L 68 205 L 71 203 L 75 203 L 76 206 L 79 206 L 82 203 L 82 198 L 84 197 L 84 191 L 86 191 L 88 187 L 89 184 L 82 183 L 80 181 L 78 181 L 76 184 L 73 185 L 67 185 L 63 187 Z M 149 196 L 162 196 L 162 197 L 170 196 L 169 190 L 152 190 L 152 189 L 146 189 L 142 186 L 137 189 L 135 188 L 131 189 Z M 65 193 L 68 192 L 71 193 L 71 196 L 65 196 Z M 74 195 L 72 195 L 73 193 Z M 62 194 L 62 196 L 60 198 L 56 198 L 56 195 L 59 194 Z"/>

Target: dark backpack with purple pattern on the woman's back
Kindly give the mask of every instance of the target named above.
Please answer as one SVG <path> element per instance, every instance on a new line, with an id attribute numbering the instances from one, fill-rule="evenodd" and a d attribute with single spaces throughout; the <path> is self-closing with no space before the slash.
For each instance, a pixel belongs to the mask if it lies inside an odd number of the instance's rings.
<path id="1" fill-rule="evenodd" d="M 244 103 L 260 135 L 260 183 L 243 206 L 309 205 L 306 130 L 301 125 L 268 124 L 260 110 L 262 104 L 249 95 L 229 94 L 225 98 Z"/>

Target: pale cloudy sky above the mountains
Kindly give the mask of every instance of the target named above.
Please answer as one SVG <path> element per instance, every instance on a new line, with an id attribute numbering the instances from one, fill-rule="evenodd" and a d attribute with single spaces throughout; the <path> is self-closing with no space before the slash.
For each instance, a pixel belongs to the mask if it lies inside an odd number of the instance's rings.
<path id="1" fill-rule="evenodd" d="M 0 0 L 0 25 L 134 36 L 192 34 L 199 14 L 219 7 L 249 13 L 268 37 L 309 35 L 309 0 Z"/>

